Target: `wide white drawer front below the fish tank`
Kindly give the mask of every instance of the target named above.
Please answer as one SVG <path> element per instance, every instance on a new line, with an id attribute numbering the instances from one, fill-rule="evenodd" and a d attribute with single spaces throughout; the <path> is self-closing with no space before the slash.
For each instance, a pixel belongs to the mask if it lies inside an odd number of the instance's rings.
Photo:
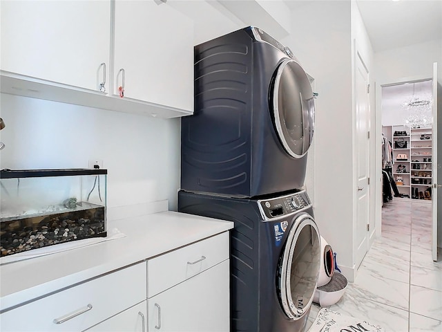
<path id="1" fill-rule="evenodd" d="M 146 264 L 140 263 L 2 313 L 0 330 L 83 331 L 145 299 Z"/>

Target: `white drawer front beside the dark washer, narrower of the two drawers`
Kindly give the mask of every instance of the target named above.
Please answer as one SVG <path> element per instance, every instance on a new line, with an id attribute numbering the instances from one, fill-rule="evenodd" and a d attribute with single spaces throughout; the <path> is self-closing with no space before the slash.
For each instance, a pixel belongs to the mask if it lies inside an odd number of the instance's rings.
<path id="1" fill-rule="evenodd" d="M 165 291 L 229 258 L 229 232 L 147 261 L 147 297 Z"/>

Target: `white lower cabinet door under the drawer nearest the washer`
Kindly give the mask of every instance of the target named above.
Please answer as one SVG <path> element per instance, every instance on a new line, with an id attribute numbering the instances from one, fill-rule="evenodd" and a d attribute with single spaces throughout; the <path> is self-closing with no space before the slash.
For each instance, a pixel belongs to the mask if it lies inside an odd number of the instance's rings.
<path id="1" fill-rule="evenodd" d="M 229 259 L 148 299 L 148 331 L 230 331 Z"/>

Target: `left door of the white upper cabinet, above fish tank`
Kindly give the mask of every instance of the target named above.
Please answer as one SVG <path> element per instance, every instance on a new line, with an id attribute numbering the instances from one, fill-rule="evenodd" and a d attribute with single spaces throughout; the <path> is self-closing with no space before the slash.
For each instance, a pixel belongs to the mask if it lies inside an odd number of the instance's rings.
<path id="1" fill-rule="evenodd" d="M 97 90 L 111 1 L 1 1 L 1 69 Z"/>

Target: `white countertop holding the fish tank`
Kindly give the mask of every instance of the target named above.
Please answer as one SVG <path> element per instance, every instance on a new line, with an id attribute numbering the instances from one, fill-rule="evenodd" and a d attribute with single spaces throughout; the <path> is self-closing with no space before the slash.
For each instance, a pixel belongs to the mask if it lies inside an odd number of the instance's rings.
<path id="1" fill-rule="evenodd" d="M 0 311 L 233 228 L 231 221 L 158 212 L 108 223 L 126 237 L 0 266 Z"/>

